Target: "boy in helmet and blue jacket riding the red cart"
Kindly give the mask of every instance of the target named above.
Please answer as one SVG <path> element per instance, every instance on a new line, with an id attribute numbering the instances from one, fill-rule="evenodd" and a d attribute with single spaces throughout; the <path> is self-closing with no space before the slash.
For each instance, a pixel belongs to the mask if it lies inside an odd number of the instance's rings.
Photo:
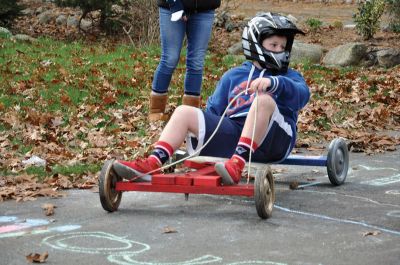
<path id="1" fill-rule="evenodd" d="M 285 16 L 257 14 L 242 35 L 244 54 L 252 62 L 247 61 L 222 76 L 205 111 L 179 106 L 153 153 L 133 162 L 115 161 L 115 172 L 127 179 L 147 177 L 148 172 L 154 173 L 168 161 L 185 138 L 189 153 L 198 150 L 210 138 L 231 101 L 217 133 L 200 152 L 200 155 L 230 157 L 215 165 L 222 183 L 232 185 L 240 181 L 250 152 L 258 162 L 285 159 L 296 141 L 298 111 L 310 98 L 301 74 L 288 69 L 294 36 L 298 33 L 304 34 Z"/>

